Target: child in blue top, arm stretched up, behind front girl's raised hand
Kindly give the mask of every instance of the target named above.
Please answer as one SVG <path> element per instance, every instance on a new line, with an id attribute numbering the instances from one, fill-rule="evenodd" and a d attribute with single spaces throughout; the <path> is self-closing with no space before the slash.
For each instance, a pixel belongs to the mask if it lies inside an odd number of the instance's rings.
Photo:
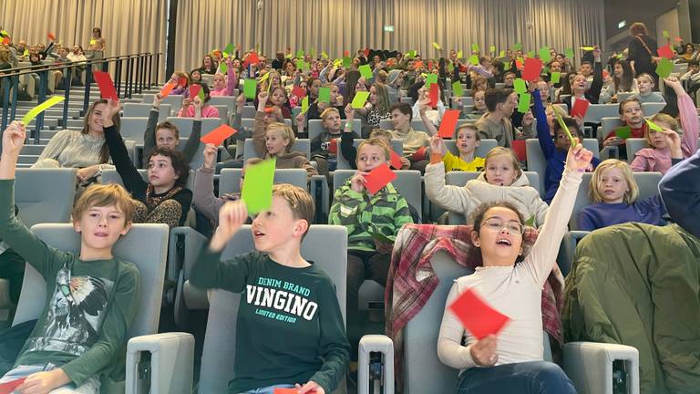
<path id="1" fill-rule="evenodd" d="M 547 169 L 544 174 L 540 174 L 540 176 L 544 176 L 544 202 L 551 203 L 551 199 L 554 198 L 554 194 L 559 188 L 566 155 L 571 148 L 571 140 L 557 121 L 554 109 L 550 107 L 548 109 L 549 112 L 545 112 L 544 105 L 540 100 L 540 89 L 535 88 L 535 85 L 530 83 L 530 91 L 532 92 L 534 112 L 537 118 L 537 138 L 540 140 L 540 148 L 542 149 L 542 154 L 544 154 L 544 159 L 547 160 Z M 569 117 L 565 117 L 562 120 L 569 132 L 571 132 L 571 136 L 581 140 L 578 122 Z M 554 136 L 553 141 L 551 139 L 552 134 Z M 586 169 L 586 171 L 593 171 L 600 162 L 600 159 L 593 157 L 591 160 L 592 168 Z"/>

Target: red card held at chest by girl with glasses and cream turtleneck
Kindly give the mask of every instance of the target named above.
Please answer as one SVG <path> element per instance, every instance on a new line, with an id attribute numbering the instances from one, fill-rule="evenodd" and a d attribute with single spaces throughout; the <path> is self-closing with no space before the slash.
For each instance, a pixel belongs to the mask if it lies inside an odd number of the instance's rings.
<path id="1" fill-rule="evenodd" d="M 455 300 L 449 309 L 462 325 L 476 337 L 481 339 L 491 334 L 498 335 L 499 331 L 510 321 L 508 316 L 501 314 L 481 299 L 472 289 L 467 289 Z"/>

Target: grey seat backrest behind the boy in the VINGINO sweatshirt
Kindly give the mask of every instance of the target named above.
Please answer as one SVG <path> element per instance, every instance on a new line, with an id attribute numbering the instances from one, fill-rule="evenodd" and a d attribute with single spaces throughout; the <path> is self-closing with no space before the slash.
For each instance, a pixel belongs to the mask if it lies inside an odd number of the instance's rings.
<path id="1" fill-rule="evenodd" d="M 221 259 L 252 251 L 251 226 L 244 225 L 229 241 Z M 345 277 L 347 264 L 347 231 L 344 226 L 314 224 L 302 243 L 304 259 L 321 266 L 334 280 L 335 295 L 345 318 Z M 226 392 L 234 378 L 236 356 L 236 321 L 240 294 L 213 290 L 209 300 L 209 317 L 201 354 L 199 392 Z"/>

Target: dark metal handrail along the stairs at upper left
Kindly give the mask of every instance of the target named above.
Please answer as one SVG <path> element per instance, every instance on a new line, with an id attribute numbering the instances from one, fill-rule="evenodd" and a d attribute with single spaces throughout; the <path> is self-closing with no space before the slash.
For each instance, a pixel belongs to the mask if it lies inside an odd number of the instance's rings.
<path id="1" fill-rule="evenodd" d="M 59 119 L 59 125 L 66 126 L 68 118 L 68 102 L 70 99 L 70 90 L 72 87 L 72 73 L 74 67 L 86 67 L 85 72 L 85 98 L 83 100 L 83 109 L 80 111 L 80 115 L 84 116 L 88 111 L 90 105 L 90 88 L 93 82 L 92 70 L 101 69 L 102 71 L 108 71 L 109 64 L 114 64 L 115 71 L 112 80 L 115 82 L 115 88 L 117 88 L 117 94 L 119 98 L 131 99 L 132 94 L 141 93 L 144 88 L 149 89 L 154 85 L 158 84 L 158 71 L 160 69 L 160 57 L 162 53 L 149 53 L 140 52 L 137 54 L 130 55 L 119 55 L 115 57 L 101 57 L 88 59 L 85 61 L 77 61 L 71 63 L 63 64 L 43 64 L 36 66 L 26 66 L 26 67 L 15 67 L 9 68 L 0 74 L 0 84 L 3 87 L 3 111 L 2 111 L 2 123 L 0 130 L 5 130 L 7 124 L 10 121 L 15 120 L 16 117 L 16 104 L 17 104 L 17 92 L 19 88 L 19 77 L 23 75 L 38 74 L 38 98 L 37 104 L 41 104 L 46 101 L 46 90 L 48 85 L 48 73 L 50 71 L 63 71 L 65 83 L 65 101 L 63 102 L 63 114 L 61 119 Z M 125 64 L 126 62 L 126 64 Z M 154 65 L 155 63 L 155 65 Z M 126 67 L 126 78 L 122 80 L 122 71 Z M 145 70 L 148 68 L 148 75 Z M 136 69 L 137 72 L 134 72 Z M 155 73 L 155 76 L 154 76 Z M 10 90 L 12 89 L 13 94 L 10 95 Z M 40 140 L 40 130 L 44 127 L 44 113 L 40 113 L 36 117 L 35 129 L 32 130 L 31 137 L 34 139 L 35 143 L 38 144 Z"/>

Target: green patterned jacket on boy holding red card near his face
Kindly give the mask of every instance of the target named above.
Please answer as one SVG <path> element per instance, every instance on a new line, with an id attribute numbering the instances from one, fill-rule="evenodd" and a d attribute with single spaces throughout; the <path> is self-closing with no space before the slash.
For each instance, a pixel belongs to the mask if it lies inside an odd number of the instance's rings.
<path id="1" fill-rule="evenodd" d="M 347 248 L 351 250 L 376 251 L 371 233 L 381 233 L 392 242 L 396 233 L 406 223 L 413 223 L 406 199 L 388 183 L 379 192 L 369 195 L 350 188 L 351 179 L 335 191 L 329 224 L 347 228 Z"/>

